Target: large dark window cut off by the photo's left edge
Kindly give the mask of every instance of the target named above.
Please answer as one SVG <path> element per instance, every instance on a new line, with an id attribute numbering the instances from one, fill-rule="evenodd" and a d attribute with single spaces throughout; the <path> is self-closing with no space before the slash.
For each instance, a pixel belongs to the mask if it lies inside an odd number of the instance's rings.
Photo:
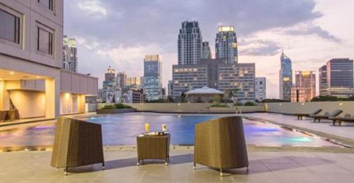
<path id="1" fill-rule="evenodd" d="M 0 38 L 20 44 L 20 18 L 0 9 Z"/>

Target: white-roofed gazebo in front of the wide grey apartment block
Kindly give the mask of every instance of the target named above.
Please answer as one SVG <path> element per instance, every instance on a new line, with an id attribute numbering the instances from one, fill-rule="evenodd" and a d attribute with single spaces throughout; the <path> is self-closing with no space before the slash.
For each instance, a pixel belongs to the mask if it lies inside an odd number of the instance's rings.
<path id="1" fill-rule="evenodd" d="M 222 99 L 224 92 L 204 86 L 185 93 L 188 102 L 214 102 L 217 98 Z"/>

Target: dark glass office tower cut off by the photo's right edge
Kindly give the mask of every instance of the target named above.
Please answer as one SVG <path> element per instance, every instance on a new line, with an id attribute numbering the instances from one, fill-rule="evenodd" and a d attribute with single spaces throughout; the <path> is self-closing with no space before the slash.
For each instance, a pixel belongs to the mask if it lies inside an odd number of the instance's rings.
<path id="1" fill-rule="evenodd" d="M 328 95 L 338 98 L 354 96 L 353 60 L 331 59 L 326 64 Z"/>

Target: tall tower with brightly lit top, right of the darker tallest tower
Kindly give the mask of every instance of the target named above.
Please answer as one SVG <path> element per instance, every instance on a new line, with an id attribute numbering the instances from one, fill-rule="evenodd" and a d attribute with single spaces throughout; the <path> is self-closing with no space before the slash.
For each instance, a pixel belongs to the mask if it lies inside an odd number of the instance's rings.
<path id="1" fill-rule="evenodd" d="M 237 37 L 234 26 L 219 26 L 215 39 L 215 58 L 225 58 L 227 63 L 237 63 Z"/>

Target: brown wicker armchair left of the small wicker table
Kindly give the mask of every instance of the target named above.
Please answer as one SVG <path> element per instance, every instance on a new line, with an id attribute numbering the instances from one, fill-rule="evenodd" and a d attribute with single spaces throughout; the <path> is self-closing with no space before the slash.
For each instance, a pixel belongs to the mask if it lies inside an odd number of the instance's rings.
<path id="1" fill-rule="evenodd" d="M 102 163 L 103 144 L 101 124 L 59 117 L 52 151 L 52 167 L 78 167 Z"/>

